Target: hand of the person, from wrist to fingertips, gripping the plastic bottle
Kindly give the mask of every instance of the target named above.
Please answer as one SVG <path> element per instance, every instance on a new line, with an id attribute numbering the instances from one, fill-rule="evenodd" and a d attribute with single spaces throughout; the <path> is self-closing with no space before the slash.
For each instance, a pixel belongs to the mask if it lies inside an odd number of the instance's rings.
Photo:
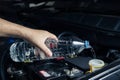
<path id="1" fill-rule="evenodd" d="M 27 31 L 25 34 L 26 40 L 30 41 L 32 44 L 41 49 L 46 54 L 46 56 L 52 56 L 52 52 L 45 45 L 45 40 L 47 38 L 56 39 L 58 41 L 57 37 L 54 34 L 45 30 L 31 29 L 29 32 Z"/>

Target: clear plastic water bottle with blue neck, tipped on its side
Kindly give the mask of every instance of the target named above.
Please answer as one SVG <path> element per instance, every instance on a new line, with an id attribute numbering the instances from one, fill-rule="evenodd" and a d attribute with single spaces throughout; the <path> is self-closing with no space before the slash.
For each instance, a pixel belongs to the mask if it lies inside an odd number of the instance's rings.
<path id="1" fill-rule="evenodd" d="M 47 57 L 44 52 L 32 44 L 22 41 L 15 42 L 10 47 L 10 57 L 14 62 L 33 62 L 42 59 L 53 59 L 57 57 L 73 57 L 86 48 L 91 48 L 89 42 L 59 41 L 47 39 L 46 46 L 52 51 L 52 57 Z"/>

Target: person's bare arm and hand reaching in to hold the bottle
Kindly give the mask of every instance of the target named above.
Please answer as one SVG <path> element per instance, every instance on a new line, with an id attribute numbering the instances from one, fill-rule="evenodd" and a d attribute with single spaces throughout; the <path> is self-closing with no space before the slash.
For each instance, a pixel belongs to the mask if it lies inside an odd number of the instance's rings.
<path id="1" fill-rule="evenodd" d="M 18 24 L 14 24 L 0 18 L 0 36 L 4 37 L 18 37 L 26 39 L 38 48 L 40 48 L 47 56 L 52 56 L 52 52 L 44 44 L 47 38 L 57 37 L 45 30 L 30 29 Z"/>

